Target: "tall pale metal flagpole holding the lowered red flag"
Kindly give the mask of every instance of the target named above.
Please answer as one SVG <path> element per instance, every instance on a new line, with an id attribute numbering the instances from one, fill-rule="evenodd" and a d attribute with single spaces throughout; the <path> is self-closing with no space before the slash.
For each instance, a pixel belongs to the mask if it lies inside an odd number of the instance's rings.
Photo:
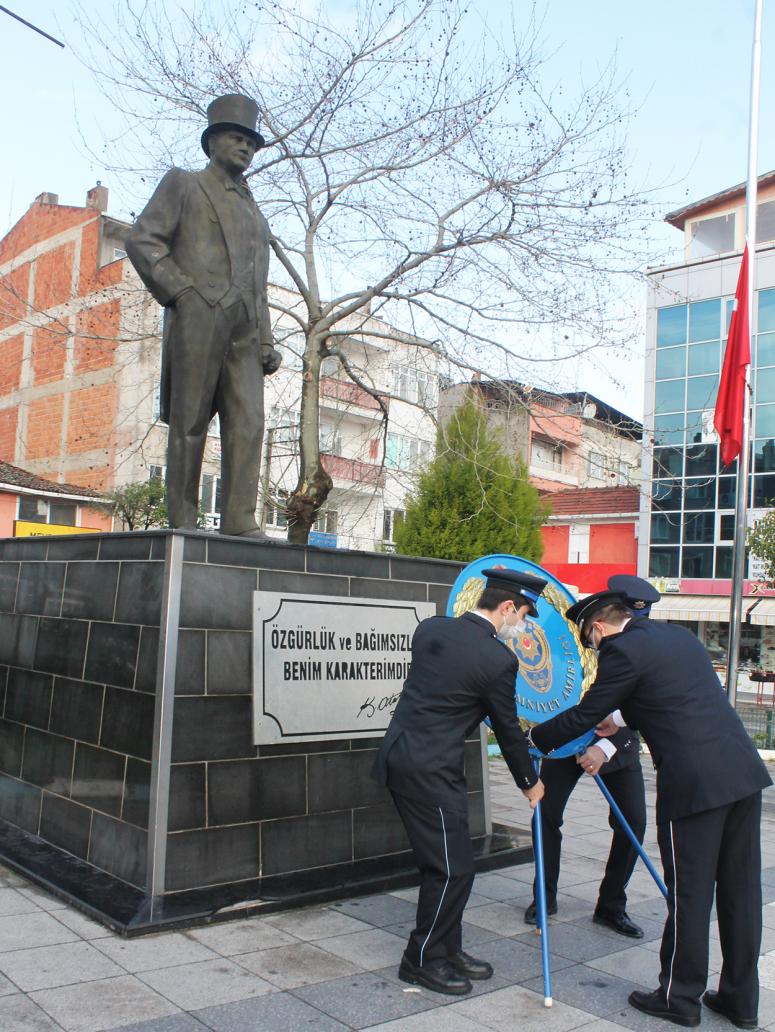
<path id="1" fill-rule="evenodd" d="M 753 17 L 753 47 L 751 54 L 751 100 L 748 122 L 748 183 L 745 190 L 745 239 L 748 247 L 748 283 L 746 303 L 748 329 L 753 331 L 753 298 L 756 279 L 756 186 L 758 167 L 758 92 L 762 67 L 762 5 L 755 0 Z M 743 396 L 743 430 L 738 456 L 737 498 L 735 504 L 735 548 L 732 558 L 732 598 L 730 600 L 730 642 L 726 657 L 726 696 L 734 706 L 737 701 L 740 632 L 743 618 L 743 581 L 745 579 L 745 516 L 748 502 L 750 470 L 751 398 L 750 364 L 745 368 Z"/>

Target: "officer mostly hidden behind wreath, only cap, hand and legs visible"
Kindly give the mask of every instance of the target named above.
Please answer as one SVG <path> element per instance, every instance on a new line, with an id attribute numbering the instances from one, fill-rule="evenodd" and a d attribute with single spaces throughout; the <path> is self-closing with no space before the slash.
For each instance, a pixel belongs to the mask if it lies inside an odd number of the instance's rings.
<path id="1" fill-rule="evenodd" d="M 647 617 L 659 592 L 640 577 L 617 574 L 609 578 L 611 590 L 621 591 L 633 617 Z M 562 817 L 571 793 L 583 774 L 600 774 L 624 818 L 643 841 L 646 831 L 646 793 L 641 770 L 641 740 L 629 728 L 620 728 L 613 738 L 599 736 L 581 756 L 545 760 L 541 765 L 544 800 L 541 805 L 541 828 L 544 838 L 544 870 L 546 873 L 546 908 L 557 912 L 557 881 L 562 846 Z M 608 823 L 613 832 L 611 851 L 601 881 L 592 921 L 634 939 L 643 938 L 643 930 L 631 921 L 626 912 L 626 885 L 635 870 L 638 852 L 612 810 Z M 527 925 L 536 924 L 536 884 L 534 901 L 525 910 Z"/>

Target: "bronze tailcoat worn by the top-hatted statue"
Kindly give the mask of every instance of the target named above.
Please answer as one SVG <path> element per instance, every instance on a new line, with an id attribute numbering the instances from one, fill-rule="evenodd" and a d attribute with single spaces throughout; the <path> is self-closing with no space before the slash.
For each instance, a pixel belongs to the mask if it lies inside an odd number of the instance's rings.
<path id="1" fill-rule="evenodd" d="M 253 219 L 235 218 L 228 191 L 246 199 Z M 159 304 L 168 307 L 189 287 L 215 305 L 241 299 L 257 326 L 257 346 L 271 345 L 266 297 L 269 226 L 255 201 L 207 166 L 199 172 L 171 168 L 127 236 L 127 254 Z M 248 191 L 249 193 L 249 191 Z M 234 267 L 237 254 L 252 254 L 252 269 Z M 240 280 L 234 288 L 235 281 Z M 228 296 L 227 296 L 228 295 Z M 169 320 L 162 345 L 161 416 L 169 411 Z M 198 360 L 194 357 L 194 360 Z"/>

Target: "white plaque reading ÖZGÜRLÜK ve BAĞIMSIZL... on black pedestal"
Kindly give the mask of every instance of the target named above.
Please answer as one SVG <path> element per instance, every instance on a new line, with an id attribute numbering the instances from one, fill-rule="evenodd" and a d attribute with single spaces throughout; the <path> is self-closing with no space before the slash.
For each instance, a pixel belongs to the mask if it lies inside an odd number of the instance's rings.
<path id="1" fill-rule="evenodd" d="M 383 735 L 427 602 L 256 591 L 256 745 Z"/>

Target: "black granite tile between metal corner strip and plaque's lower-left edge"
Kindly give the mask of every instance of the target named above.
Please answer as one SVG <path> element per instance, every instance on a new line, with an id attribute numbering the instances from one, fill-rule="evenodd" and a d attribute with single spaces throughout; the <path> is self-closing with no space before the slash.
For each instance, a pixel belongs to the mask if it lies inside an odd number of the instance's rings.
<path id="1" fill-rule="evenodd" d="M 175 699 L 172 763 L 255 756 L 250 696 Z"/>

